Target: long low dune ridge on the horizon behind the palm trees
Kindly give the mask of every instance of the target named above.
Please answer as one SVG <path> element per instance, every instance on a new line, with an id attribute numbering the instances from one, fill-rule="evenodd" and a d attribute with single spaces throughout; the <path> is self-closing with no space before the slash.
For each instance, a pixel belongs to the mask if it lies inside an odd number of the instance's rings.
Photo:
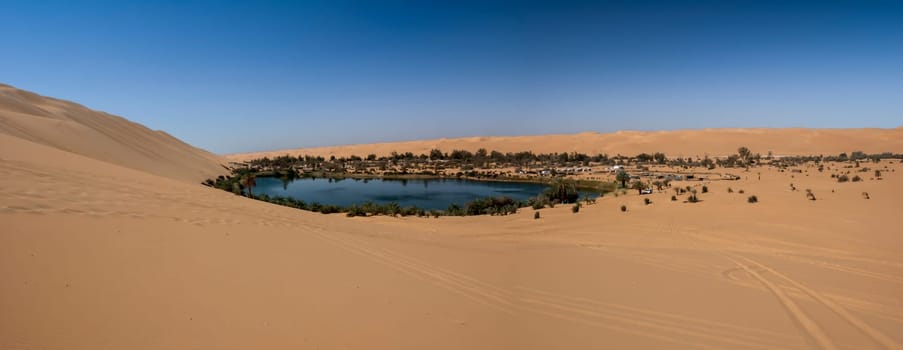
<path id="1" fill-rule="evenodd" d="M 670 157 L 723 156 L 736 154 L 740 146 L 766 155 L 832 154 L 863 151 L 867 153 L 903 152 L 903 127 L 896 129 L 705 129 L 677 131 L 618 131 L 573 135 L 465 137 L 362 145 L 344 145 L 304 149 L 251 152 L 227 155 L 232 160 L 290 154 L 336 157 L 389 155 L 392 152 L 429 154 L 432 149 L 451 152 L 480 148 L 499 152 L 536 153 L 580 152 L 610 156 L 663 152 Z"/>

